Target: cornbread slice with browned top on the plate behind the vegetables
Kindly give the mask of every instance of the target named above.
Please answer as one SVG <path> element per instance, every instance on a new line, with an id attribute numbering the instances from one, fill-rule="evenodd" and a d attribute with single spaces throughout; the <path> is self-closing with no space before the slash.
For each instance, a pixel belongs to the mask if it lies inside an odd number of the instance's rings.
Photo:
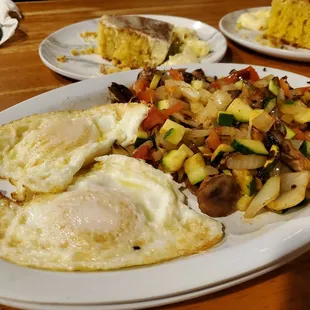
<path id="1" fill-rule="evenodd" d="M 158 66 L 172 41 L 173 25 L 140 16 L 104 15 L 98 26 L 98 52 L 122 67 Z"/>

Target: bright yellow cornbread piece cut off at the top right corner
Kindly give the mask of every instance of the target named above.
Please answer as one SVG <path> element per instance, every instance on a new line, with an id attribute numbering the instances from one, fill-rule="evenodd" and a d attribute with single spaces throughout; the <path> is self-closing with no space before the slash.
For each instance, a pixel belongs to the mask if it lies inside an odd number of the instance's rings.
<path id="1" fill-rule="evenodd" d="M 310 49 L 309 0 L 273 0 L 266 35 Z"/>

